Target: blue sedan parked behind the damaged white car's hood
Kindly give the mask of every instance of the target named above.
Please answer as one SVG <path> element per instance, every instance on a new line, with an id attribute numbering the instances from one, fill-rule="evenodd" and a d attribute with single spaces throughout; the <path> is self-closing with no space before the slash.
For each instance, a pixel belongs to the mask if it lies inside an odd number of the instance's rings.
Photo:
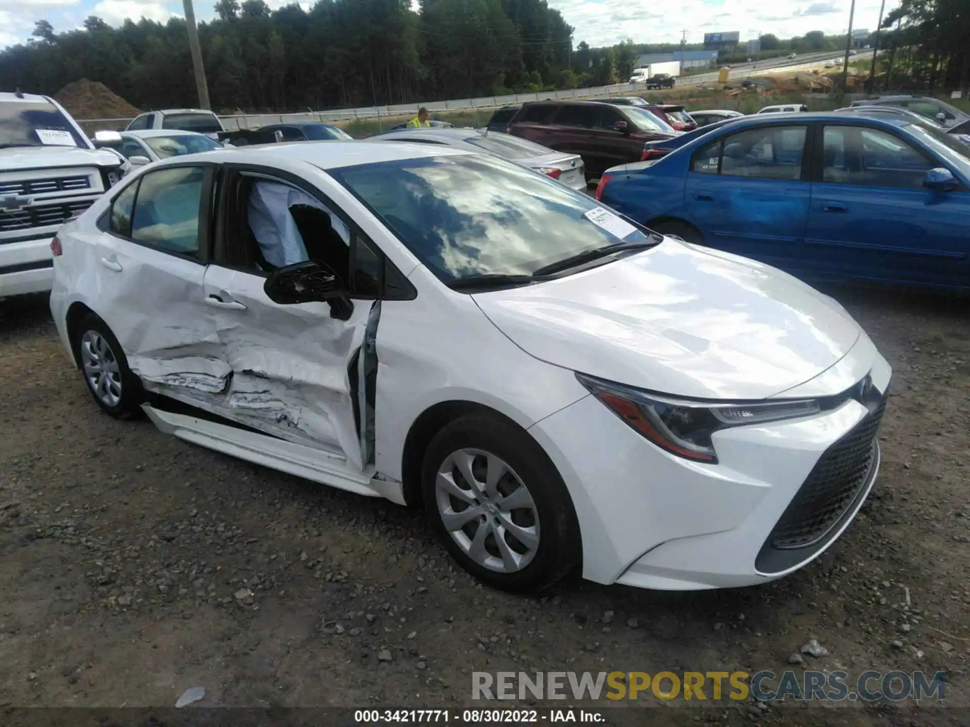
<path id="1" fill-rule="evenodd" d="M 607 170 L 597 199 L 813 280 L 970 290 L 970 147 L 906 118 L 737 119 Z"/>

